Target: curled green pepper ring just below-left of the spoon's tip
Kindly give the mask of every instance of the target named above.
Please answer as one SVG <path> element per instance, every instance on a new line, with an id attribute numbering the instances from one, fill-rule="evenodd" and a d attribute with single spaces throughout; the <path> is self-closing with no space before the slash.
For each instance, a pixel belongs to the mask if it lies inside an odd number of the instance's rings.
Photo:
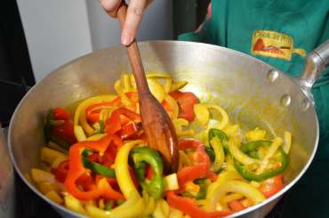
<path id="1" fill-rule="evenodd" d="M 132 149 L 132 161 L 140 186 L 148 192 L 153 198 L 161 198 L 164 192 L 163 162 L 156 151 L 147 146 Z M 146 166 L 149 165 L 153 170 L 151 181 L 145 179 Z"/>

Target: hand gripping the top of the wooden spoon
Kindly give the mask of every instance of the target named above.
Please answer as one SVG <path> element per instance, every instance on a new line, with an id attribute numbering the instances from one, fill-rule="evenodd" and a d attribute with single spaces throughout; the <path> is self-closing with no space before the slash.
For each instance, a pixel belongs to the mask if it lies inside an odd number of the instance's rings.
<path id="1" fill-rule="evenodd" d="M 106 12 L 108 12 L 111 17 L 116 18 L 117 9 L 122 4 L 122 2 L 123 0 L 100 0 L 100 5 Z M 137 29 L 140 26 L 140 20 L 143 11 L 151 2 L 152 0 L 130 1 L 124 22 L 124 28 L 122 29 L 121 34 L 122 44 L 129 45 L 132 43 L 136 36 Z"/>

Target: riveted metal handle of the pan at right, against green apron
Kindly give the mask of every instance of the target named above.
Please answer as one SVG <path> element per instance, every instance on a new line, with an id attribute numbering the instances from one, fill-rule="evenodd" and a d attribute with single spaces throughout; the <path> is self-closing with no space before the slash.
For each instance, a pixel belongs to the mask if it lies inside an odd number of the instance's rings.
<path id="1" fill-rule="evenodd" d="M 325 68 L 329 65 L 329 40 L 320 44 L 315 50 L 309 53 L 305 61 L 304 71 L 298 78 L 301 89 L 313 101 L 311 88 L 317 78 L 320 77 Z"/>

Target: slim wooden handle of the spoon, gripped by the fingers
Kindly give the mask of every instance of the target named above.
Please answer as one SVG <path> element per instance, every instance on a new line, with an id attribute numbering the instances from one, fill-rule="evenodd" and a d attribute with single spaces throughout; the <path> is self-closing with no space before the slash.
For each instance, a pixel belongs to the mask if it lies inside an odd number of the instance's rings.
<path id="1" fill-rule="evenodd" d="M 121 28 L 124 28 L 125 16 L 127 13 L 127 5 L 121 4 L 121 6 L 117 9 L 117 18 L 120 22 Z M 132 65 L 132 73 L 136 80 L 137 89 L 140 95 L 145 93 L 149 93 L 148 82 L 146 80 L 143 63 L 140 58 L 140 49 L 133 39 L 132 44 L 126 46 L 128 50 L 128 56 L 130 63 Z"/>

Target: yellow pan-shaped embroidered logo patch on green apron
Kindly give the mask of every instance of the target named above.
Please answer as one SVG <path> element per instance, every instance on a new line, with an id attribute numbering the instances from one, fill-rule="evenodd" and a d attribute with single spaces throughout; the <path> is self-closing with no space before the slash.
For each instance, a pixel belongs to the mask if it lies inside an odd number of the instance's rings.
<path id="1" fill-rule="evenodd" d="M 293 53 L 305 57 L 304 49 L 293 48 L 293 37 L 268 30 L 254 30 L 252 53 L 290 61 Z"/>

